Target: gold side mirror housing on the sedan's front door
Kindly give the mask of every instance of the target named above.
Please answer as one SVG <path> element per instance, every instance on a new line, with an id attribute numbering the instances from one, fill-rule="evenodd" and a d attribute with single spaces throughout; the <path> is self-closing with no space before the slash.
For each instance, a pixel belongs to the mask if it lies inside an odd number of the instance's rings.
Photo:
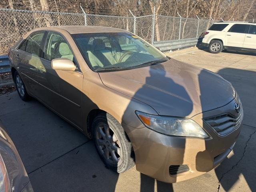
<path id="1" fill-rule="evenodd" d="M 76 65 L 67 58 L 57 58 L 52 60 L 52 69 L 74 71 L 76 70 Z"/>

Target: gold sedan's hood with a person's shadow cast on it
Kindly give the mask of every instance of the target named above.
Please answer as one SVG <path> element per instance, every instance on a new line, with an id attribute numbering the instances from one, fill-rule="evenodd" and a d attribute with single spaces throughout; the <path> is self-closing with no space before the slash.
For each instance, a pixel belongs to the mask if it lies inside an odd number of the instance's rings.
<path id="1" fill-rule="evenodd" d="M 174 59 L 99 75 L 105 86 L 148 104 L 159 115 L 192 117 L 235 97 L 230 82 L 218 74 Z"/>

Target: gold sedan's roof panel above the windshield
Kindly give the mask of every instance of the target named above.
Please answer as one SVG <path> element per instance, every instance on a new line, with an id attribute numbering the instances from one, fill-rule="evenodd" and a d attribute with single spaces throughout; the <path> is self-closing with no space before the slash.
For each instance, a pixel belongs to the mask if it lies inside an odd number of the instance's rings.
<path id="1" fill-rule="evenodd" d="M 53 26 L 46 27 L 44 29 L 50 30 L 52 28 L 64 29 L 70 34 L 79 34 L 79 33 L 105 33 L 105 32 L 128 32 L 126 30 L 111 28 L 111 27 L 101 27 L 101 26 Z"/>

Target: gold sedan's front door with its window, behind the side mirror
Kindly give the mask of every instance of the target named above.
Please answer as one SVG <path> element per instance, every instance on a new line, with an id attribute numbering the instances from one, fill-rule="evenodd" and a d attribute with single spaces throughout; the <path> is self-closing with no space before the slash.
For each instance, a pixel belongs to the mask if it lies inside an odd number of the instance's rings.
<path id="1" fill-rule="evenodd" d="M 68 42 L 61 34 L 48 32 L 43 52 L 38 61 L 38 98 L 78 128 L 82 128 L 83 74 L 78 67 L 75 71 L 53 70 L 51 67 L 51 61 L 56 58 L 68 58 L 76 64 Z"/>

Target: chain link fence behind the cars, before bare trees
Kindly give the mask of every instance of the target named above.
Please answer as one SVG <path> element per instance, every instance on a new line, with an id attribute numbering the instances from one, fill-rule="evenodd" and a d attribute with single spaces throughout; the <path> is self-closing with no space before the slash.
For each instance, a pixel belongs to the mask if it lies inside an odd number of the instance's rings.
<path id="1" fill-rule="evenodd" d="M 156 15 L 107 16 L 86 13 L 60 13 L 0 8 L 0 55 L 7 54 L 30 30 L 45 26 L 90 25 L 128 30 L 153 44 L 157 41 L 197 38 L 213 24 L 212 20 Z"/>

